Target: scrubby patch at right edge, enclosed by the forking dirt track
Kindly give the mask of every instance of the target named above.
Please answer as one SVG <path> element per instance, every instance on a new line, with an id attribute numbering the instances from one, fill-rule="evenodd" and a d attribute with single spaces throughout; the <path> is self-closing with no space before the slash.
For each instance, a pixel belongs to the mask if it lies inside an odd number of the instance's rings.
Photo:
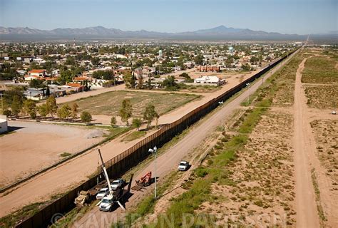
<path id="1" fill-rule="evenodd" d="M 327 175 L 338 185 L 338 119 L 314 120 L 311 127 L 317 142 L 317 156 Z"/>

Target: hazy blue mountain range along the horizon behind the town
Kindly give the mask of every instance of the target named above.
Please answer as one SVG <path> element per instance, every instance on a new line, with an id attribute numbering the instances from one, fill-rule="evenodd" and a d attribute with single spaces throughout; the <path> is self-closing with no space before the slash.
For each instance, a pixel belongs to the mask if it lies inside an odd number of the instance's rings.
<path id="1" fill-rule="evenodd" d="M 337 33 L 336 33 L 337 35 Z M 177 40 L 304 40 L 305 35 L 282 34 L 266 31 L 254 31 L 248 28 L 229 28 L 217 26 L 215 28 L 200 29 L 180 33 L 162 33 L 156 31 L 123 31 L 117 28 L 103 26 L 87 28 L 56 28 L 40 30 L 36 28 L 6 28 L 0 26 L 0 39 L 58 39 L 58 38 L 158 38 Z"/>

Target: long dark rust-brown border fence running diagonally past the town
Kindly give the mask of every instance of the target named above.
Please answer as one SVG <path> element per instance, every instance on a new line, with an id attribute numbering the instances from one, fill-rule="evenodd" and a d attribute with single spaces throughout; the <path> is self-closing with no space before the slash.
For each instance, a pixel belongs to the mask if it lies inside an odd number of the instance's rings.
<path id="1" fill-rule="evenodd" d="M 165 144 L 165 142 L 170 141 L 175 135 L 178 135 L 190 125 L 200 120 L 200 118 L 203 118 L 203 116 L 210 113 L 211 110 L 217 108 L 219 101 L 227 100 L 232 95 L 235 95 L 235 93 L 242 90 L 242 88 L 245 88 L 247 83 L 255 81 L 255 79 L 267 73 L 267 71 L 270 71 L 271 68 L 277 66 L 278 63 L 282 62 L 295 51 L 292 51 L 287 56 L 284 56 L 274 63 L 271 63 L 270 66 L 266 66 L 262 69 L 262 71 L 256 73 L 250 78 L 247 78 L 245 81 L 242 81 L 242 83 L 231 88 L 230 90 L 227 90 L 227 92 L 219 95 L 217 98 L 213 98 L 212 100 L 208 101 L 208 103 L 195 108 L 194 110 L 190 111 L 190 113 L 184 115 L 175 122 L 165 125 L 163 128 L 160 128 L 160 130 L 153 133 L 153 135 L 149 135 L 147 138 L 136 143 L 133 145 L 133 147 L 130 147 L 120 155 L 108 160 L 105 165 L 107 167 L 109 177 L 116 178 L 123 175 L 124 172 L 128 171 L 131 167 L 134 167 L 139 162 L 145 160 L 145 158 L 148 157 L 148 148 L 152 148 L 155 145 L 161 147 Z M 68 212 L 70 209 L 72 209 L 74 207 L 74 199 L 78 196 L 78 192 L 81 190 L 90 190 L 92 187 L 95 187 L 97 185 L 98 179 L 99 175 L 91 177 L 91 179 L 83 182 L 83 184 L 43 207 L 39 210 L 39 212 L 36 212 L 36 214 L 25 219 L 16 227 L 47 227 L 48 224 L 51 224 L 51 219 L 53 218 L 54 214 Z"/>

